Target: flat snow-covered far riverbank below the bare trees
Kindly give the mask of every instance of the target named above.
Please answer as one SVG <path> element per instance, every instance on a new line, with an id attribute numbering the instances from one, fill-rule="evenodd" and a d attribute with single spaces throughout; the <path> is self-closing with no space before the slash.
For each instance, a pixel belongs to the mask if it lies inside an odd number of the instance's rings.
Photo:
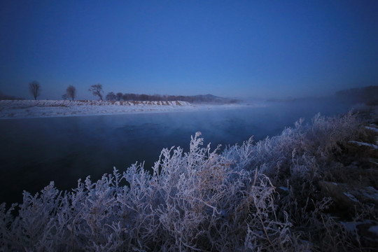
<path id="1" fill-rule="evenodd" d="M 181 101 L 100 102 L 59 100 L 2 100 L 0 101 L 0 119 L 204 111 L 216 109 L 239 109 L 243 107 L 251 107 L 251 105 L 190 104 L 188 102 Z"/>

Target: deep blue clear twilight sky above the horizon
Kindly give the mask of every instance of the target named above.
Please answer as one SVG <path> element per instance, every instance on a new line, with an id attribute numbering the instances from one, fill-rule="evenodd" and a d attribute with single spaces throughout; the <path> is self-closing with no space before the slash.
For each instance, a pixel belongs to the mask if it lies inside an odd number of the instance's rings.
<path id="1" fill-rule="evenodd" d="M 0 91 L 324 95 L 377 85 L 378 1 L 0 3 Z"/>

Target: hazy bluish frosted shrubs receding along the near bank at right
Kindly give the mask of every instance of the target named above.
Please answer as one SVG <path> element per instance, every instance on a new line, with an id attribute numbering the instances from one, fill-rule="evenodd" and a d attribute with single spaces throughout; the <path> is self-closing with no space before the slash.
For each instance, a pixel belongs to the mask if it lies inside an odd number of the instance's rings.
<path id="1" fill-rule="evenodd" d="M 286 183 L 297 176 L 311 181 L 325 172 L 325 165 L 340 153 L 350 140 L 363 137 L 365 130 L 356 114 L 326 118 L 317 114 L 311 124 L 300 119 L 275 137 L 241 146 L 231 146 L 223 155 L 237 160 L 235 169 L 260 169 L 275 182 Z M 328 172 L 328 171 L 327 171 Z"/>

